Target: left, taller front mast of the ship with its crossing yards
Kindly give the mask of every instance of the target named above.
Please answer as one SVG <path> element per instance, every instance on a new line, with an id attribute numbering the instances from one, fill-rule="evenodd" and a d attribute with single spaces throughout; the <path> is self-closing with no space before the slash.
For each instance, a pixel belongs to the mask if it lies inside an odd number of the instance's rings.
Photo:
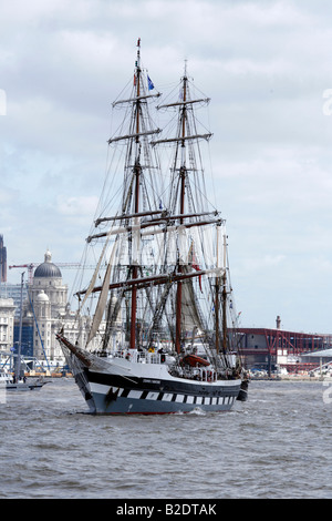
<path id="1" fill-rule="evenodd" d="M 154 90 L 154 85 L 148 85 L 148 92 L 144 83 L 144 69 L 141 65 L 141 38 L 137 40 L 137 55 L 135 61 L 134 70 L 134 84 L 132 94 L 129 98 L 117 100 L 113 103 L 113 108 L 120 104 L 128 104 L 132 106 L 129 112 L 129 129 L 124 135 L 111 137 L 108 144 L 121 142 L 122 140 L 127 141 L 126 149 L 126 161 L 125 161 L 125 177 L 124 177 L 124 190 L 122 198 L 122 207 L 120 214 L 114 217 L 100 217 L 95 222 L 95 226 L 106 223 L 107 221 L 115 221 L 120 218 L 120 228 L 126 229 L 129 234 L 128 242 L 128 255 L 129 266 L 128 273 L 123 275 L 125 279 L 135 282 L 138 279 L 142 266 L 139 266 L 139 258 L 136 255 L 137 244 L 137 228 L 139 227 L 139 217 L 160 215 L 157 212 L 155 204 L 152 205 L 151 198 L 155 196 L 156 192 L 148 193 L 152 188 L 151 178 L 147 180 L 145 171 L 151 172 L 153 168 L 149 163 L 148 152 L 148 139 L 152 134 L 160 132 L 159 129 L 153 129 L 151 126 L 151 119 L 148 116 L 147 103 L 151 98 L 158 98 L 159 92 L 151 93 Z M 121 144 L 121 143 L 120 143 Z M 152 175 L 152 173 L 149 173 Z M 112 228 L 111 228 L 112 229 Z M 113 233 L 121 233 L 121 229 L 113 229 Z M 93 238 L 107 236 L 108 233 L 100 233 L 87 237 L 87 242 Z M 123 268 L 125 270 L 125 267 Z M 117 270 L 118 274 L 118 270 Z M 133 284 L 131 286 L 131 299 L 128 300 L 129 310 L 129 327 L 128 327 L 128 343 L 129 348 L 136 347 L 136 329 L 137 329 L 137 317 L 138 317 L 138 286 Z"/>

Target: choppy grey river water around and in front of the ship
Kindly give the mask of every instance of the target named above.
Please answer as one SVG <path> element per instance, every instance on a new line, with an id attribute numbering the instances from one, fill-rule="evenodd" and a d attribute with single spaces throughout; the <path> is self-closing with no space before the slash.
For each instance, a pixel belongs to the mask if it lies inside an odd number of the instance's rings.
<path id="1" fill-rule="evenodd" d="M 332 391 L 249 392 L 231 412 L 153 417 L 90 416 L 72 379 L 7 395 L 0 498 L 332 498 Z"/>

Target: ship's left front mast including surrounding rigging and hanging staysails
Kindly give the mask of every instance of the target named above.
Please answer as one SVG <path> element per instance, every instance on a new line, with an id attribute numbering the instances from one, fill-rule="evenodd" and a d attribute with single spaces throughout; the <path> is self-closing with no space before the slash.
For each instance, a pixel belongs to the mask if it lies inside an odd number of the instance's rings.
<path id="1" fill-rule="evenodd" d="M 83 305 L 87 308 L 87 298 L 91 297 L 89 313 L 93 310 L 94 318 L 97 315 L 97 319 L 93 319 L 87 338 L 91 341 L 98 333 L 104 351 L 112 331 L 118 327 L 116 317 L 120 311 L 127 316 L 127 346 L 134 349 L 137 345 L 138 323 L 141 324 L 144 314 L 152 313 L 148 306 L 153 307 L 152 300 L 142 296 L 141 280 L 145 273 L 157 273 L 152 255 L 148 256 L 149 239 L 141 243 L 141 228 L 147 227 L 149 233 L 152 225 L 157 231 L 166 224 L 163 221 L 165 211 L 160 210 L 163 190 L 159 185 L 163 185 L 164 180 L 157 151 L 149 143 L 151 136 L 158 134 L 160 129 L 154 124 L 148 108 L 162 94 L 155 89 L 142 64 L 141 39 L 136 44 L 133 82 L 127 88 L 125 94 L 112 103 L 113 113 L 120 111 L 123 118 L 115 133 L 107 140 L 112 153 L 106 180 L 94 219 L 95 229 L 86 238 L 86 254 L 93 258 L 92 263 L 95 258 L 98 258 L 98 263 L 87 289 L 75 293 L 79 299 L 84 295 L 81 308 Z M 117 187 L 117 183 L 122 185 Z M 120 193 L 120 197 L 110 196 L 113 184 L 116 187 L 114 193 Z M 153 241 L 158 244 L 160 237 L 153 237 Z M 103 286 L 96 287 L 96 280 Z M 147 286 L 144 292 L 148 297 L 151 290 Z M 100 293 L 96 298 L 95 293 Z M 100 329 L 103 316 L 105 330 Z"/>

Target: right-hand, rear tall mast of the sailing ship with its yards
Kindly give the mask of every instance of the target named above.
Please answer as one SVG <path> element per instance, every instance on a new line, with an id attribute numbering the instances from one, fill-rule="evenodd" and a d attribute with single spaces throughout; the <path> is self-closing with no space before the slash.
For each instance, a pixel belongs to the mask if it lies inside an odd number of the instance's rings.
<path id="1" fill-rule="evenodd" d="M 163 137 L 160 140 L 153 140 L 152 145 L 156 144 L 175 144 L 175 154 L 173 160 L 173 176 L 170 182 L 170 194 L 168 211 L 173 218 L 177 221 L 178 233 L 189 227 L 198 227 L 197 233 L 201 233 L 199 229 L 205 224 L 212 224 L 211 219 L 204 221 L 199 218 L 200 215 L 206 213 L 206 201 L 203 196 L 205 194 L 204 175 L 203 170 L 199 173 L 196 164 L 196 151 L 198 152 L 198 159 L 200 160 L 200 152 L 198 147 L 199 140 L 208 141 L 211 136 L 210 133 L 198 132 L 197 121 L 194 113 L 194 105 L 207 104 L 208 98 L 196 96 L 191 99 L 190 95 L 190 80 L 187 75 L 187 63 L 185 63 L 184 75 L 180 80 L 180 93 L 178 101 L 174 103 L 160 104 L 157 109 L 177 109 L 177 131 L 175 136 Z M 190 174 L 190 178 L 189 178 Z M 195 198 L 196 195 L 196 198 Z M 175 215 L 174 215 L 175 214 Z M 207 213 L 206 213 L 207 214 Z M 217 213 L 215 214 L 217 215 Z M 165 218 L 164 216 L 162 218 Z M 167 218 L 167 217 L 166 217 Z M 189 222 L 188 222 L 189 221 Z M 216 222 L 220 222 L 216 219 Z M 184 327 L 188 324 L 188 311 L 193 313 L 193 316 L 198 318 L 198 302 L 196 300 L 196 293 L 191 289 L 191 282 L 185 282 L 183 275 L 190 270 L 189 264 L 184 257 L 184 248 L 181 237 L 178 235 L 178 248 L 177 248 L 177 273 L 179 274 L 176 283 L 175 294 L 175 337 L 174 344 L 175 349 L 179 354 L 181 349 L 181 339 L 184 336 Z M 187 265 L 188 264 L 188 265 Z M 200 278 L 199 278 L 200 280 Z M 184 284 L 186 286 L 184 286 Z M 199 282 L 200 285 L 200 282 Z M 200 287 L 201 290 L 201 287 Z M 193 306 L 188 308 L 188 298 L 193 302 Z M 194 311 L 195 309 L 195 311 Z M 201 328 L 201 320 L 199 320 L 199 327 Z"/>

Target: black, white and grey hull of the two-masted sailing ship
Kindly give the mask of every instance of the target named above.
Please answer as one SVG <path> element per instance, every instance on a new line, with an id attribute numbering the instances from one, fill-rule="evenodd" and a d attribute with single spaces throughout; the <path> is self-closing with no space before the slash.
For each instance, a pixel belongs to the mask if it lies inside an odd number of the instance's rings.
<path id="1" fill-rule="evenodd" d="M 75 357 L 71 354 L 71 359 Z M 102 369 L 76 359 L 71 365 L 75 381 L 95 415 L 167 415 L 228 411 L 237 399 L 241 380 L 214 382 L 175 378 L 165 365 L 98 361 Z M 136 369 L 136 370 L 135 370 Z M 136 375 L 135 375 L 136 372 Z"/>

